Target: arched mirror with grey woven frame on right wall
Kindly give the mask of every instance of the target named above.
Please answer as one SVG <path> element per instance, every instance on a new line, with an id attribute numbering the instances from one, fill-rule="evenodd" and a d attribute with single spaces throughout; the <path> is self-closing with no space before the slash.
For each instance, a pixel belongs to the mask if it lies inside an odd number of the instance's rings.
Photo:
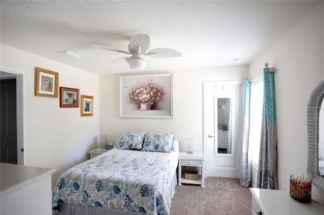
<path id="1" fill-rule="evenodd" d="M 307 177 L 324 191 L 324 80 L 312 91 L 307 104 Z"/>

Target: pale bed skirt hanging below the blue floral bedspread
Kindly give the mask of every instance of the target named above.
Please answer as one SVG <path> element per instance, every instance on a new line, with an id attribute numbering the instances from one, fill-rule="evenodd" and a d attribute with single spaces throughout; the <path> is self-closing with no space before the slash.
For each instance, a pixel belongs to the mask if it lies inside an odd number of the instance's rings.
<path id="1" fill-rule="evenodd" d="M 169 195 L 167 199 L 167 203 L 169 206 L 169 211 L 171 207 L 171 201 L 173 199 L 174 194 L 176 193 L 176 185 L 177 182 L 177 171 L 174 173 L 173 180 L 170 183 L 169 187 Z M 90 207 L 84 205 L 74 205 L 74 204 L 61 204 L 59 209 L 59 215 L 132 215 L 132 214 L 143 214 L 140 212 L 133 212 L 127 210 L 116 210 L 116 209 L 109 209 L 105 207 Z"/>

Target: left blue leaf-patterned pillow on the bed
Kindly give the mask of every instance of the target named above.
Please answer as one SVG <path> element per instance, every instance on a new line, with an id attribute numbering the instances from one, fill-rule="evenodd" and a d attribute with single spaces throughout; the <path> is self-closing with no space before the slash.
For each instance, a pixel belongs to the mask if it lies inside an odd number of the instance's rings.
<path id="1" fill-rule="evenodd" d="M 120 134 L 114 148 L 118 149 L 141 149 L 146 132 L 134 132 Z"/>

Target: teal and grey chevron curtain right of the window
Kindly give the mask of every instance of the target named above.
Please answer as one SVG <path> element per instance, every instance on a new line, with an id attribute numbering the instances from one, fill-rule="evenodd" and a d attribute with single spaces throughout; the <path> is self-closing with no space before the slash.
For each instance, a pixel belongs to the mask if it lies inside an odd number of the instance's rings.
<path id="1" fill-rule="evenodd" d="M 276 190 L 277 126 L 273 72 L 268 72 L 268 68 L 264 68 L 263 78 L 264 93 L 257 187 Z"/>

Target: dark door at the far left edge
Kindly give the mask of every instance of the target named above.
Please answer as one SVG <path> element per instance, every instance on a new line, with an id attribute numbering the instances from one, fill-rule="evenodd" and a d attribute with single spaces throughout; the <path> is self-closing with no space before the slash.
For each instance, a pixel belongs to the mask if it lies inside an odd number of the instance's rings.
<path id="1" fill-rule="evenodd" d="M 1 162 L 17 164 L 16 79 L 1 80 Z"/>

